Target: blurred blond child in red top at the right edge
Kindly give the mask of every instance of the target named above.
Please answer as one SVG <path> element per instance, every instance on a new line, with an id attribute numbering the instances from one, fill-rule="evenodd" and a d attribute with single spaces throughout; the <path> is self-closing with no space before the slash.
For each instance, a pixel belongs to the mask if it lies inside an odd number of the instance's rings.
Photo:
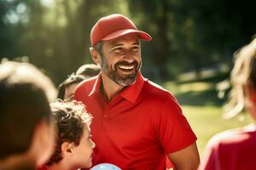
<path id="1" fill-rule="evenodd" d="M 243 109 L 256 120 L 256 39 L 235 55 L 231 72 L 232 89 L 225 105 L 227 117 L 236 116 Z M 200 170 L 255 169 L 256 126 L 235 128 L 218 133 L 207 144 Z"/>

